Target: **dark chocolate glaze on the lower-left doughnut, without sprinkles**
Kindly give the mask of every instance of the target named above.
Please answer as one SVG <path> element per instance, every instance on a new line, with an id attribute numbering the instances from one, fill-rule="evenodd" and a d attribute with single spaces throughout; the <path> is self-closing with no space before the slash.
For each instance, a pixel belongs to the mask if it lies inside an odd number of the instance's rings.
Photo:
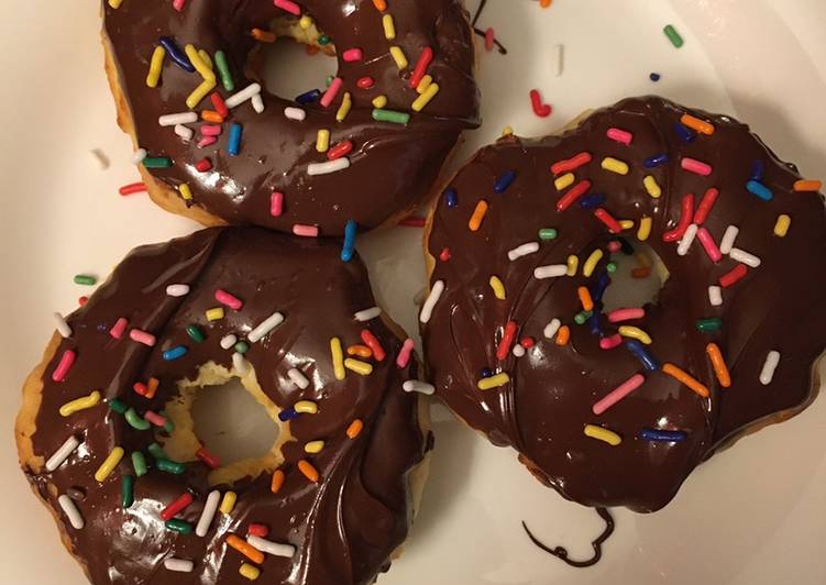
<path id="1" fill-rule="evenodd" d="M 389 566 L 389 554 L 401 543 L 411 521 L 408 472 L 423 456 L 426 441 L 417 412 L 417 396 L 403 391 L 404 380 L 416 377 L 415 361 L 398 368 L 395 354 L 399 340 L 381 319 L 356 322 L 353 313 L 374 306 L 366 271 L 360 260 L 343 263 L 339 249 L 317 241 L 296 241 L 261 229 L 211 229 L 166 244 L 139 247 L 115 268 L 82 308 L 68 317 L 74 334 L 63 340 L 46 367 L 43 402 L 33 435 L 34 452 L 48 457 L 69 435 L 82 438 L 75 454 L 54 473 L 26 468 L 29 481 L 41 497 L 58 510 L 73 552 L 86 564 L 96 585 L 141 584 L 241 584 L 238 570 L 244 560 L 224 544 L 228 533 L 246 534 L 250 522 L 271 529 L 269 539 L 297 548 L 293 559 L 267 555 L 262 569 L 266 583 L 365 584 Z M 191 285 L 188 296 L 166 296 L 173 283 Z M 244 301 L 239 311 L 227 309 L 224 319 L 207 322 L 205 310 L 217 306 L 217 288 Z M 286 482 L 271 493 L 269 473 L 232 486 L 238 504 L 229 516 L 217 515 L 206 538 L 176 536 L 166 530 L 159 510 L 190 489 L 196 501 L 179 518 L 196 523 L 207 493 L 208 470 L 199 461 L 187 462 L 183 475 L 151 470 L 136 478 L 135 503 L 120 504 L 121 476 L 133 474 L 129 456 L 155 439 L 151 431 L 136 431 L 103 402 L 68 418 L 58 415 L 67 400 L 98 388 L 106 398 L 120 398 L 139 413 L 156 412 L 176 396 L 175 380 L 194 379 L 198 367 L 214 361 L 231 367 L 231 351 L 219 340 L 235 332 L 239 338 L 274 310 L 285 321 L 245 354 L 262 389 L 279 408 L 301 399 L 315 400 L 317 415 L 302 415 L 289 423 L 296 439 L 283 448 L 282 470 Z M 118 341 L 108 330 L 119 317 L 157 335 L 147 347 L 128 336 Z M 197 323 L 206 333 L 195 343 L 185 332 Z M 329 340 L 360 343 L 360 331 L 370 329 L 387 351 L 374 362 L 370 376 L 348 372 L 344 380 L 333 377 Z M 165 362 L 165 349 L 184 344 L 189 352 Z M 77 351 L 77 362 L 64 383 L 51 374 L 64 350 Z M 300 390 L 287 377 L 298 367 L 310 380 Z M 132 390 L 132 384 L 150 376 L 161 380 L 154 399 Z M 345 435 L 359 418 L 364 430 L 355 439 Z M 304 452 L 308 441 L 321 439 L 317 455 Z M 102 484 L 93 474 L 114 445 L 126 452 L 115 472 Z M 152 457 L 146 454 L 147 461 Z M 296 468 L 308 459 L 319 471 L 311 484 Z M 57 495 L 81 489 L 86 498 L 78 508 L 86 519 L 74 530 L 57 507 Z M 224 486 L 225 488 L 225 486 Z M 222 488 L 223 489 L 223 488 Z M 189 574 L 163 567 L 169 556 L 195 562 Z"/>

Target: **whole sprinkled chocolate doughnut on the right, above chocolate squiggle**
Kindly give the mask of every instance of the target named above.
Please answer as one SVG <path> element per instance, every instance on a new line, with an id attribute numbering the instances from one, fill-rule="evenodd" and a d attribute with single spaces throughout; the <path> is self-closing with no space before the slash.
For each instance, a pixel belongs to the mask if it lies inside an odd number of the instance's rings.
<path id="1" fill-rule="evenodd" d="M 747 125 L 656 97 L 483 148 L 430 218 L 437 393 L 564 497 L 661 508 L 716 450 L 815 397 L 819 187 Z M 612 253 L 640 241 L 668 280 L 604 310 Z"/>

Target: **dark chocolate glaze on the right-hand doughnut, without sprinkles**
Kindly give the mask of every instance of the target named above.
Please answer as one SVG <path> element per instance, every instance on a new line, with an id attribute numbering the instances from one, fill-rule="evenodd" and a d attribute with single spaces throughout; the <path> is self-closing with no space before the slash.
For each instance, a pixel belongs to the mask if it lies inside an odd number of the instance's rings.
<path id="1" fill-rule="evenodd" d="M 694 111 L 713 122 L 716 131 L 683 142 L 674 124 L 686 111 L 660 98 L 635 98 L 593 112 L 562 136 L 504 139 L 477 153 L 450 184 L 458 205 L 450 208 L 442 197 L 433 211 L 428 251 L 436 266 L 430 283 L 442 279 L 445 290 L 422 325 L 422 335 L 438 395 L 492 442 L 518 450 L 540 481 L 587 506 L 657 510 L 720 445 L 775 415 L 797 412 L 815 396 L 813 365 L 826 345 L 822 196 L 794 192 L 795 167 L 731 118 Z M 612 126 L 632 132 L 631 145 L 607 139 Z M 573 278 L 533 277 L 536 266 L 565 264 L 570 254 L 579 255 L 582 266 L 593 250 L 605 249 L 610 239 L 592 211 L 577 205 L 557 211 L 561 194 L 550 166 L 581 152 L 591 153 L 593 162 L 575 172 L 576 181 L 591 180 L 591 192 L 605 195 L 604 207 L 615 218 L 653 218 L 648 243 L 670 278 L 657 303 L 648 305 L 646 317 L 631 324 L 651 335 L 648 350 L 661 363 L 671 362 L 705 384 L 708 399 L 662 372 L 646 372 L 624 346 L 601 350 L 587 324 L 574 324 L 573 316 L 581 310 L 576 288 L 597 278 L 607 254 L 592 278 L 583 277 L 582 271 Z M 669 164 L 643 168 L 643 159 L 662 153 L 669 154 Z M 629 174 L 601 168 L 605 156 L 628 163 Z M 682 170 L 682 156 L 713 165 L 711 176 Z M 762 181 L 774 192 L 768 202 L 746 190 L 756 159 L 764 164 Z M 494 180 L 507 170 L 517 173 L 516 180 L 506 192 L 495 194 Z M 642 187 L 648 174 L 662 187 L 659 199 Z M 736 245 L 762 258 L 759 268 L 749 268 L 742 280 L 723 290 L 720 307 L 711 306 L 707 287 L 736 262 L 724 256 L 713 264 L 698 242 L 681 257 L 675 243 L 662 241 L 663 232 L 680 219 L 683 195 L 693 192 L 698 202 L 712 186 L 720 195 L 705 227 L 719 242 L 727 225 L 738 225 Z M 482 198 L 491 207 L 481 229 L 472 232 L 469 218 Z M 780 213 L 792 219 L 783 239 L 772 233 Z M 540 228 L 557 228 L 559 238 L 540 242 L 538 253 L 509 262 L 507 252 L 539 241 Z M 624 234 L 632 239 L 636 227 Z M 438 260 L 444 247 L 450 249 L 448 262 Z M 491 275 L 504 283 L 506 300 L 495 298 Z M 722 329 L 697 331 L 695 321 L 704 317 L 722 318 Z M 571 328 L 571 343 L 565 346 L 543 338 L 543 328 L 553 318 Z M 519 323 L 517 339 L 530 335 L 537 344 L 522 357 L 508 353 L 497 361 L 496 343 L 508 320 Z M 604 314 L 599 327 L 605 334 L 616 331 Z M 731 371 L 733 386 L 727 389 L 717 384 L 706 357 L 711 341 L 719 345 Z M 779 351 L 781 361 L 773 382 L 764 386 L 758 377 L 770 350 Z M 511 383 L 478 390 L 476 383 L 486 367 L 507 372 Z M 602 416 L 592 412 L 597 400 L 638 372 L 646 376 L 640 388 Z M 619 433 L 621 444 L 609 446 L 585 437 L 583 428 L 588 423 Z M 687 439 L 639 439 L 646 427 L 683 430 Z"/>

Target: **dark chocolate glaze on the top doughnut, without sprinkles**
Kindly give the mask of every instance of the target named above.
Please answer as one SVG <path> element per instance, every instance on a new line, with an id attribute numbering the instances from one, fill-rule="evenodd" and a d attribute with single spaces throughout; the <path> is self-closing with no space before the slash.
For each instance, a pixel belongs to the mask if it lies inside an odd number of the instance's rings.
<path id="1" fill-rule="evenodd" d="M 172 128 L 161 128 L 161 114 L 186 111 L 185 100 L 200 81 L 166 58 L 162 84 L 146 86 L 148 62 L 158 37 L 176 38 L 183 48 L 192 43 L 210 55 L 222 49 L 232 65 L 236 90 L 254 80 L 242 70 L 257 44 L 252 27 L 269 29 L 275 19 L 291 18 L 273 2 L 258 0 L 189 0 L 177 12 L 165 0 L 126 0 L 117 10 L 103 1 L 103 32 L 111 42 L 120 86 L 134 120 L 136 142 L 151 155 L 169 156 L 168 169 L 152 175 L 175 188 L 188 183 L 194 203 L 233 224 L 256 224 L 290 231 L 295 223 L 317 224 L 322 234 L 343 233 L 348 220 L 363 229 L 375 228 L 415 207 L 428 194 L 439 170 L 456 143 L 460 132 L 478 124 L 478 90 L 473 79 L 474 51 L 467 13 L 460 0 L 389 2 L 396 40 L 410 66 L 399 70 L 388 53 L 382 13 L 368 0 L 302 0 L 302 9 L 321 32 L 330 35 L 339 52 L 359 47 L 364 59 L 345 63 L 339 58 L 338 75 L 344 81 L 333 104 L 305 106 L 307 119 L 288 120 L 284 108 L 290 99 L 264 92 L 266 110 L 257 114 L 250 103 L 232 110 L 229 122 L 244 129 L 240 156 L 227 154 L 229 124 L 218 143 L 198 148 L 197 140 L 185 143 Z M 408 80 L 421 49 L 431 46 L 434 58 L 428 71 L 439 84 L 438 96 L 421 113 L 414 113 L 407 126 L 373 121 L 373 98 L 385 95 L 387 109 L 411 111 L 418 97 Z M 371 89 L 359 89 L 356 80 L 375 79 Z M 319 84 L 323 80 L 319 79 Z M 322 86 L 320 86 L 323 89 Z M 227 92 L 217 88 L 223 97 Z M 313 88 L 307 88 L 313 89 Z M 353 109 L 343 123 L 335 112 L 344 91 L 353 97 Z M 200 109 L 212 109 L 209 99 Z M 195 125 L 194 125 L 195 128 Z M 329 129 L 331 144 L 351 140 L 349 169 L 310 177 L 307 165 L 327 161 L 316 152 L 318 130 Z M 213 168 L 199 173 L 195 163 L 209 157 Z M 285 195 L 284 213 L 269 212 L 273 191 Z"/>

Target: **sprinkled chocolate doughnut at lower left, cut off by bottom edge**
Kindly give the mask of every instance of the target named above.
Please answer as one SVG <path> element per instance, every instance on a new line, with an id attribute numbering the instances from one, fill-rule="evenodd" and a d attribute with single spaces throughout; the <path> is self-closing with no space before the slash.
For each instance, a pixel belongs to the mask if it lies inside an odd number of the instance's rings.
<path id="1" fill-rule="evenodd" d="M 368 584 L 389 567 L 426 477 L 431 388 L 364 265 L 338 254 L 207 229 L 134 250 L 59 324 L 15 434 L 91 583 Z M 222 465 L 189 407 L 233 377 L 279 434 Z"/>

